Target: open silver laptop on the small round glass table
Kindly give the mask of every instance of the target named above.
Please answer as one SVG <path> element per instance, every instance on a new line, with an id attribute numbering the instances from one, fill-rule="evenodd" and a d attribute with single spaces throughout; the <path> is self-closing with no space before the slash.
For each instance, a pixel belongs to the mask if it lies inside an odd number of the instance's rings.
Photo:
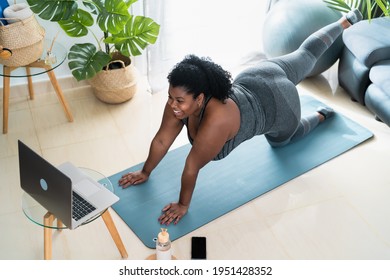
<path id="1" fill-rule="evenodd" d="M 119 200 L 70 162 L 55 167 L 20 140 L 18 150 L 22 189 L 70 229 Z"/>

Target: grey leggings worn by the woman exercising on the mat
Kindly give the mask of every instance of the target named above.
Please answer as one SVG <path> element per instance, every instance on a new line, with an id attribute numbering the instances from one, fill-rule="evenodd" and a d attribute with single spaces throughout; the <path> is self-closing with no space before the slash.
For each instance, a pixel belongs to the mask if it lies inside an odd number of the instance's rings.
<path id="1" fill-rule="evenodd" d="M 265 133 L 272 146 L 283 146 L 300 139 L 319 124 L 317 112 L 301 118 L 296 85 L 310 74 L 317 60 L 343 30 L 339 22 L 327 25 L 310 35 L 298 50 L 270 59 L 259 66 L 263 71 L 273 73 L 275 77 L 272 81 L 272 91 L 276 103 L 276 118 L 272 127 Z"/>

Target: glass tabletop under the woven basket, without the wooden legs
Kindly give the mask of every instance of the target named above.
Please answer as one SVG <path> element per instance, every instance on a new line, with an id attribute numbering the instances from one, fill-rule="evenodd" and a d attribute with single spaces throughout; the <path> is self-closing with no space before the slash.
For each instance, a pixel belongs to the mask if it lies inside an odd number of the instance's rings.
<path id="1" fill-rule="evenodd" d="M 0 76 L 6 76 L 11 78 L 37 76 L 57 68 L 65 61 L 67 51 L 63 45 L 55 41 L 51 52 L 48 52 L 51 45 L 52 40 L 44 40 L 41 58 L 26 66 L 9 67 L 12 69 L 9 75 L 4 74 L 4 67 L 6 66 L 0 67 Z M 26 72 L 26 67 L 30 68 L 29 74 Z"/>

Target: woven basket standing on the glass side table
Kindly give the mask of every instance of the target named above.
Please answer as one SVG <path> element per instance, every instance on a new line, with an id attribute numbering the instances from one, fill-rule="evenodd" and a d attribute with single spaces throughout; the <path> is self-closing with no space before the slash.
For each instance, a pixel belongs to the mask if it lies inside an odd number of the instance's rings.
<path id="1" fill-rule="evenodd" d="M 12 24 L 0 25 L 0 45 L 12 51 L 10 58 L 0 58 L 0 64 L 19 67 L 36 61 L 42 55 L 44 38 L 45 29 L 34 15 Z"/>

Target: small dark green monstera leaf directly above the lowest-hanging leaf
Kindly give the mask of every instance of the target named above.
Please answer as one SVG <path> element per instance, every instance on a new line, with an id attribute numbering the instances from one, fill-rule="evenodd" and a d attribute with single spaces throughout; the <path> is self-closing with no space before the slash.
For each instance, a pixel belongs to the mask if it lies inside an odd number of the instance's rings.
<path id="1" fill-rule="evenodd" d="M 58 22 L 61 28 L 70 37 L 82 37 L 88 34 L 88 27 L 94 24 L 94 19 L 90 13 L 78 9 L 68 20 Z"/>

